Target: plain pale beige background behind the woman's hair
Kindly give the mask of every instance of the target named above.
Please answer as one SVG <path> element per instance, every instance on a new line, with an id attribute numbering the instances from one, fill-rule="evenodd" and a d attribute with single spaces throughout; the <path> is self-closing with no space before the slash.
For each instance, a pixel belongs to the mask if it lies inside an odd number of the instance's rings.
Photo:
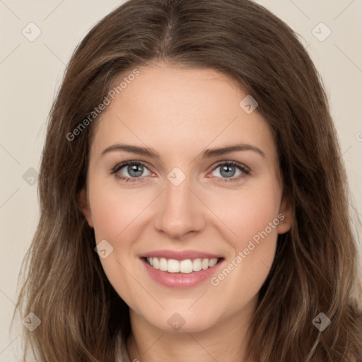
<path id="1" fill-rule="evenodd" d="M 362 0 L 259 0 L 301 36 L 327 88 L 354 206 L 362 214 Z M 18 271 L 39 217 L 37 183 L 45 122 L 66 62 L 119 0 L 0 0 L 0 361 L 20 361 L 21 321 L 11 333 Z M 28 25 L 29 23 L 35 25 Z M 325 25 L 318 25 L 321 22 Z M 317 26 L 317 28 L 315 28 Z M 41 34 L 33 42 L 37 28 Z M 29 30 L 29 28 L 31 28 Z M 325 37 L 324 41 L 317 37 Z M 31 32 L 31 33 L 30 33 Z M 317 33 L 316 33 L 317 32 Z M 319 34 L 318 34 L 319 33 Z M 23 179 L 23 175 L 27 181 Z M 30 175 L 30 176 L 29 176 Z M 362 216 L 361 216 L 362 217 Z"/>

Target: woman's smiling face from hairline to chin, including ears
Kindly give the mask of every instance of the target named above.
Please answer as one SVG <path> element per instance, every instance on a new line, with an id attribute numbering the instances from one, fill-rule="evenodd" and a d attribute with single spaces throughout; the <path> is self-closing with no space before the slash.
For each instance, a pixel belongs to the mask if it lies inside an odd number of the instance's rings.
<path id="1" fill-rule="evenodd" d="M 214 70 L 139 71 L 98 121 L 80 197 L 105 274 L 144 325 L 245 320 L 291 226 L 271 131 Z"/>

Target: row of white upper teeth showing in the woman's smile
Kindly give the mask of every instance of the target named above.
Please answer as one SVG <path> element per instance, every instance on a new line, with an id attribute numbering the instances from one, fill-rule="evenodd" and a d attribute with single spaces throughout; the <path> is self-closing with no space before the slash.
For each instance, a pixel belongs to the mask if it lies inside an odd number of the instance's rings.
<path id="1" fill-rule="evenodd" d="M 213 259 L 165 259 L 164 257 L 148 257 L 147 262 L 151 267 L 160 269 L 162 271 L 168 271 L 169 273 L 192 273 L 192 271 L 206 270 L 214 267 L 218 262 L 218 258 Z"/>

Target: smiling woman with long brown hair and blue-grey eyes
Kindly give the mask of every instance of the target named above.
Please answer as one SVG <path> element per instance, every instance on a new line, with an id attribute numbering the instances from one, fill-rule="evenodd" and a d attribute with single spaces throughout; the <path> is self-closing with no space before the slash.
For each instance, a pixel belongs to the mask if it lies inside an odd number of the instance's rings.
<path id="1" fill-rule="evenodd" d="M 362 361 L 327 97 L 262 6 L 103 18 L 69 62 L 39 187 L 18 300 L 38 361 Z"/>

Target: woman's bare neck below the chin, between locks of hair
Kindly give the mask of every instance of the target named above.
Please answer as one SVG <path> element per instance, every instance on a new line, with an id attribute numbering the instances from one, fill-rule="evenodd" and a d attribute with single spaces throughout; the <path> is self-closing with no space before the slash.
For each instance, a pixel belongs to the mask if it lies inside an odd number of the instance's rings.
<path id="1" fill-rule="evenodd" d="M 245 360 L 245 350 L 255 305 L 253 300 L 237 315 L 197 332 L 158 329 L 130 309 L 132 334 L 127 340 L 130 361 L 251 362 Z"/>

